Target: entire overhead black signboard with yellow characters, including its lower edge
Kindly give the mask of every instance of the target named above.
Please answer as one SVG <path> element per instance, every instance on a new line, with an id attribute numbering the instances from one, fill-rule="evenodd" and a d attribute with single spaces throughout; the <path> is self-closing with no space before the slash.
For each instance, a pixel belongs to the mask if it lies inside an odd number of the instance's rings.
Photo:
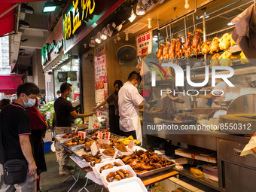
<path id="1" fill-rule="evenodd" d="M 125 0 L 72 0 L 63 14 L 64 53 L 72 49 Z"/>

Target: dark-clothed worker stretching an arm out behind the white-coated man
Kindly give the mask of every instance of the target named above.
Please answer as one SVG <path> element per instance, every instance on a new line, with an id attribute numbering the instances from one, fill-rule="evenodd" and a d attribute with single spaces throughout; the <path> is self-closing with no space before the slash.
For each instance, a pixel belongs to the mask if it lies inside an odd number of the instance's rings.
<path id="1" fill-rule="evenodd" d="M 107 102 L 108 104 L 114 101 L 114 127 L 111 127 L 114 131 L 113 133 L 116 133 L 119 135 L 119 111 L 118 111 L 118 91 L 123 86 L 123 82 L 120 80 L 114 81 L 114 92 L 111 93 L 107 99 L 105 99 L 103 102 L 99 103 L 96 107 L 93 108 L 93 111 L 96 111 L 97 108 L 100 108 L 101 106 L 105 105 Z M 115 128 L 117 127 L 117 130 Z"/>

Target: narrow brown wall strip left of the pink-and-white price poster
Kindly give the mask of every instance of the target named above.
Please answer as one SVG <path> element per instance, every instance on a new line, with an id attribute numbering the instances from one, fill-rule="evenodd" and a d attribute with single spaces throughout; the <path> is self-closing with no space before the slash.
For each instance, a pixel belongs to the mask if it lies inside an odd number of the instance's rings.
<path id="1" fill-rule="evenodd" d="M 94 66 L 93 57 L 87 58 L 83 55 L 82 58 L 82 72 L 83 72 L 83 99 L 84 99 L 84 113 L 90 113 L 95 104 L 94 91 Z M 87 117 L 89 120 L 89 117 Z"/>

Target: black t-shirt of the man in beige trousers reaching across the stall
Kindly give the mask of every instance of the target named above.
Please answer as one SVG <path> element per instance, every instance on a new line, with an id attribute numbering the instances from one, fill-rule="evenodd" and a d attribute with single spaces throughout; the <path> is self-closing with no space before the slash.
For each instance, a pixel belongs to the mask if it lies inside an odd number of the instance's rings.
<path id="1" fill-rule="evenodd" d="M 56 114 L 56 126 L 71 126 L 73 116 L 70 112 L 75 111 L 71 102 L 59 97 L 54 102 L 54 111 Z"/>

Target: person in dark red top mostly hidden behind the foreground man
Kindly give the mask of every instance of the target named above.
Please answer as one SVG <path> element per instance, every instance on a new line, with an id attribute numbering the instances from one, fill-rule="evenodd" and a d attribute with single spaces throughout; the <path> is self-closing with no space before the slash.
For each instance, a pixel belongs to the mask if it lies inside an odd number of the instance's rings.
<path id="1" fill-rule="evenodd" d="M 37 169 L 37 191 L 40 190 L 40 174 L 41 172 L 46 172 L 46 163 L 44 158 L 44 136 L 46 132 L 47 124 L 44 120 L 43 115 L 38 110 L 38 101 L 35 102 L 35 105 L 32 107 L 26 108 L 29 117 L 30 117 L 30 125 L 31 125 L 31 144 L 32 144 L 32 152 L 35 159 L 35 165 L 38 167 Z"/>

